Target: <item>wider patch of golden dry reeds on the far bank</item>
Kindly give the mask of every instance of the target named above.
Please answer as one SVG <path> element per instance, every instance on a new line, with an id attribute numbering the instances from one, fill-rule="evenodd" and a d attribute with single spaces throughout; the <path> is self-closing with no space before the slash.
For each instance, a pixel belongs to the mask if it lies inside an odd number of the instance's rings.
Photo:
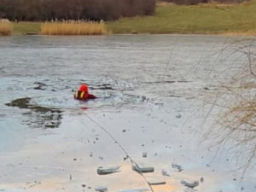
<path id="1" fill-rule="evenodd" d="M 104 22 L 56 21 L 43 23 L 41 33 L 43 35 L 103 35 L 107 31 Z"/>

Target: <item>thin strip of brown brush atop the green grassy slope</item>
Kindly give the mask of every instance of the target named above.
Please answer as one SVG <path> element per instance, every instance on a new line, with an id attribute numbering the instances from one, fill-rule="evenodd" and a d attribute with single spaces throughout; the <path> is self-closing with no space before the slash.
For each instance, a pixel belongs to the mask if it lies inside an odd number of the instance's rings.
<path id="1" fill-rule="evenodd" d="M 176 4 L 185 4 L 185 5 L 192 5 L 198 3 L 243 3 L 248 2 L 250 0 L 160 0 L 161 2 L 169 2 L 169 3 L 176 3 Z"/>

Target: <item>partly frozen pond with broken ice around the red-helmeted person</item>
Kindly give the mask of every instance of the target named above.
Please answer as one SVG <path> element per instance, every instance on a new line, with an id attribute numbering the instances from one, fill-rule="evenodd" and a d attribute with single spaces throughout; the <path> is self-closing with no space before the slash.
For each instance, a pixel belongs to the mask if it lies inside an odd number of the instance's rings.
<path id="1" fill-rule="evenodd" d="M 246 61 L 231 49 L 239 39 L 0 38 L 0 191 L 122 191 L 160 181 L 155 192 L 255 192 L 255 167 L 243 174 L 236 148 L 203 136 L 216 118 L 205 122 L 207 95 Z M 98 98 L 74 101 L 80 83 Z M 134 172 L 127 154 L 154 172 Z M 98 175 L 99 166 L 120 172 Z"/>

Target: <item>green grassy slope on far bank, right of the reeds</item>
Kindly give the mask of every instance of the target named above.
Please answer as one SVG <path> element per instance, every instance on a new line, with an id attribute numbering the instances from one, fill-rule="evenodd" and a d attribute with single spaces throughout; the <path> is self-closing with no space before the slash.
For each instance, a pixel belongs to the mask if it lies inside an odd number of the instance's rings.
<path id="1" fill-rule="evenodd" d="M 218 9 L 221 8 L 221 9 Z M 225 9 L 225 10 L 223 10 Z M 153 16 L 107 22 L 113 33 L 204 33 L 253 32 L 256 0 L 236 5 L 157 5 Z"/>

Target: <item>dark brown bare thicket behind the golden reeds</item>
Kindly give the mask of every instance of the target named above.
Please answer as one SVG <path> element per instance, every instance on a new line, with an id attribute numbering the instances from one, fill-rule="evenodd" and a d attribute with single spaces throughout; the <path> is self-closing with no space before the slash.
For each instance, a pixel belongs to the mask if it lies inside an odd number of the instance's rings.
<path id="1" fill-rule="evenodd" d="M 156 0 L 0 0 L 9 20 L 117 20 L 153 15 Z"/>

